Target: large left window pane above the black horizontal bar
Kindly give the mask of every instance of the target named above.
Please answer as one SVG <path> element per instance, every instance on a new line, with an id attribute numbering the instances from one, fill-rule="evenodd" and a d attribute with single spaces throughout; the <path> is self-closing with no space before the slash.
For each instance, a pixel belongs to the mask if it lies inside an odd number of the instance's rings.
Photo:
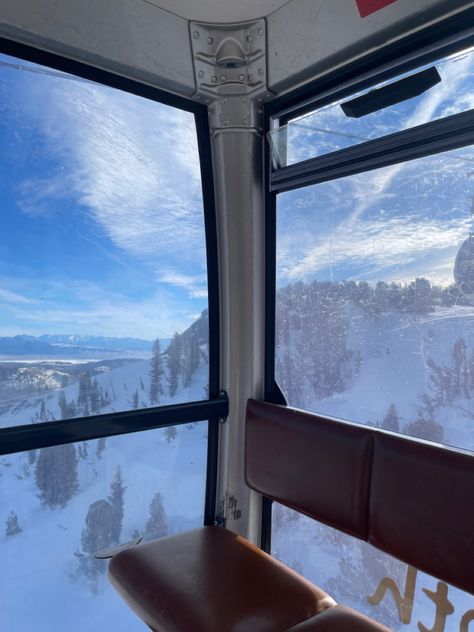
<path id="1" fill-rule="evenodd" d="M 194 116 L 6 55 L 0 97 L 0 427 L 205 398 Z"/>

